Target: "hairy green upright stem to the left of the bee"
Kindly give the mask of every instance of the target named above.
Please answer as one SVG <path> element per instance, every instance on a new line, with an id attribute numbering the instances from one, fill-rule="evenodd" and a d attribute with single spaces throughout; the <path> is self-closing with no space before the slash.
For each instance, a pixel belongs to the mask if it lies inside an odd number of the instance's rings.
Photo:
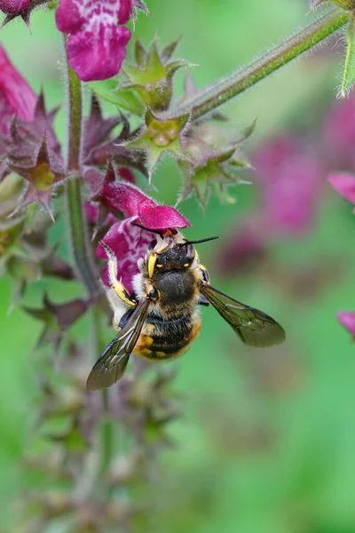
<path id="1" fill-rule="evenodd" d="M 74 70 L 67 63 L 68 137 L 67 137 L 67 227 L 75 270 L 91 299 L 98 297 L 98 276 L 91 258 L 86 220 L 83 217 L 83 199 L 80 179 L 83 101 L 82 86 Z"/>

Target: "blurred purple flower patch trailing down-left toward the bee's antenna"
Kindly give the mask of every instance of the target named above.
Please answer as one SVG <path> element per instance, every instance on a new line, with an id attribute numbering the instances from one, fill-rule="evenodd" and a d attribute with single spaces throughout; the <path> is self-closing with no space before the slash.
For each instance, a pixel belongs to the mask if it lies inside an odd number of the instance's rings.
<path id="1" fill-rule="evenodd" d="M 224 274 L 262 258 L 275 240 L 308 230 L 316 211 L 322 173 L 317 156 L 298 139 L 271 139 L 256 150 L 252 162 L 259 202 L 222 247 L 219 269 Z"/>

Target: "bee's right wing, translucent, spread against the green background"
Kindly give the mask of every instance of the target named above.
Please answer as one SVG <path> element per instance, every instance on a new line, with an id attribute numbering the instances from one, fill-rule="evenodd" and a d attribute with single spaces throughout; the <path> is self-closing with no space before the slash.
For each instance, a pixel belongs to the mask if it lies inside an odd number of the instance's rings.
<path id="1" fill-rule="evenodd" d="M 285 331 L 268 314 L 241 304 L 214 289 L 209 283 L 201 282 L 200 291 L 232 326 L 244 344 L 265 347 L 280 344 L 285 340 Z"/>

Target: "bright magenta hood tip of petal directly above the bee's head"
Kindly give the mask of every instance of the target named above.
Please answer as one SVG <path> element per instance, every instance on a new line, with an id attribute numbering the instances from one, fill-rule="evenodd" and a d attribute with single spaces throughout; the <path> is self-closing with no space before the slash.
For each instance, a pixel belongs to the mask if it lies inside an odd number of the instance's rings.
<path id="1" fill-rule="evenodd" d="M 188 227 L 190 222 L 176 209 L 168 205 L 156 205 L 139 209 L 138 222 L 149 229 L 168 229 L 174 227 Z"/>

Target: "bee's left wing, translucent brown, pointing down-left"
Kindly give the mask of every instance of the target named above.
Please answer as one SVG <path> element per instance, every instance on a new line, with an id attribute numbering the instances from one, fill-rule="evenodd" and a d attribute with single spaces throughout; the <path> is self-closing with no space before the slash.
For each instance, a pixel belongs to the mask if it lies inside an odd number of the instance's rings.
<path id="1" fill-rule="evenodd" d="M 106 388 L 122 378 L 146 320 L 149 305 L 149 298 L 142 298 L 122 330 L 106 346 L 86 382 L 88 390 Z"/>

